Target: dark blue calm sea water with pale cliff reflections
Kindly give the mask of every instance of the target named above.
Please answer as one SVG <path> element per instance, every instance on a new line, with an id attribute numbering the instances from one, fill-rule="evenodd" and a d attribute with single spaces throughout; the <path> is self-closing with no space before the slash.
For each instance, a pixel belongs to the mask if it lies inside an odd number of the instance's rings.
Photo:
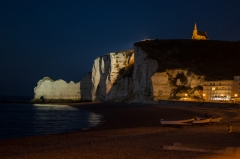
<path id="1" fill-rule="evenodd" d="M 72 132 L 100 122 L 101 115 L 67 105 L 0 103 L 0 139 Z"/>

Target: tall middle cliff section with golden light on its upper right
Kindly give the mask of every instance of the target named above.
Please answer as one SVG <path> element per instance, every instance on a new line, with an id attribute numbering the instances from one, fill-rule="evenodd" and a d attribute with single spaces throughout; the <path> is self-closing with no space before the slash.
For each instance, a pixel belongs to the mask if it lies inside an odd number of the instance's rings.
<path id="1" fill-rule="evenodd" d="M 121 101 L 132 91 L 133 50 L 109 53 L 94 60 L 92 100 Z"/>

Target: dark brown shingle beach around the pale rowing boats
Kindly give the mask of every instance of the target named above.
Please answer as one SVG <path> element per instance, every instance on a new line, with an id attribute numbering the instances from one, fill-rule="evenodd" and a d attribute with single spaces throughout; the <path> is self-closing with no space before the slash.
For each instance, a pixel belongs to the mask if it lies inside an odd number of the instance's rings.
<path id="1" fill-rule="evenodd" d="M 194 103 L 119 104 L 75 103 L 73 107 L 102 114 L 98 127 L 64 134 L 0 141 L 0 158 L 161 158 L 226 159 L 236 155 L 213 153 L 225 147 L 240 147 L 238 106 Z M 194 116 L 223 117 L 218 124 L 163 127 L 160 119 Z M 233 133 L 228 133 L 228 125 Z M 184 147 L 210 152 L 165 150 L 181 143 Z M 237 153 L 235 153 L 237 154 Z"/>

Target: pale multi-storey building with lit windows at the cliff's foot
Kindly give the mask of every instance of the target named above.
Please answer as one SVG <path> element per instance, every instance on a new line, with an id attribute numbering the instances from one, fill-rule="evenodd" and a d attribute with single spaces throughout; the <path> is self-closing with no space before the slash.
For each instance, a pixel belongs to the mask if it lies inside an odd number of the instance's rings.
<path id="1" fill-rule="evenodd" d="M 203 99 L 207 101 L 236 100 L 240 95 L 240 76 L 234 80 L 204 81 Z"/>

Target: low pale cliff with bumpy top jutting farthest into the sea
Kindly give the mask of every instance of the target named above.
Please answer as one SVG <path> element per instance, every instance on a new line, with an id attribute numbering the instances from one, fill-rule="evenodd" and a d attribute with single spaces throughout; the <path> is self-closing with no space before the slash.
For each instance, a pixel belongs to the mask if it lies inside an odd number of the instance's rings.
<path id="1" fill-rule="evenodd" d="M 64 80 L 52 80 L 49 77 L 44 77 L 39 80 L 34 88 L 34 101 L 44 98 L 45 101 L 77 101 L 80 100 L 80 82 L 73 81 L 67 83 Z"/>

